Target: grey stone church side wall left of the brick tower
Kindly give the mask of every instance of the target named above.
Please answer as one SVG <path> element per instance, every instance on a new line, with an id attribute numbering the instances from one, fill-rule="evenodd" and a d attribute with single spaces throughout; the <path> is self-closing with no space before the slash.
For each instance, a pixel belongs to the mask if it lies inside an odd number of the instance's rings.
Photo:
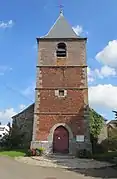
<path id="1" fill-rule="evenodd" d="M 12 117 L 12 127 L 15 130 L 15 134 L 23 134 L 22 136 L 22 146 L 30 147 L 32 140 L 32 131 L 33 131 L 33 120 L 34 120 L 34 104 L 31 104 L 26 109 L 21 111 Z"/>

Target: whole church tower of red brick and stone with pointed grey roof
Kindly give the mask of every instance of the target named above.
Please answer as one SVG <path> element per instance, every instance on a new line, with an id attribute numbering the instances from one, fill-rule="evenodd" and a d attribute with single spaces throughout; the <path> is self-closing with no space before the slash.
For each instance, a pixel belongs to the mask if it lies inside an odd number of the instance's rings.
<path id="1" fill-rule="evenodd" d="M 86 41 L 63 13 L 46 36 L 37 38 L 32 148 L 70 154 L 90 150 Z"/>

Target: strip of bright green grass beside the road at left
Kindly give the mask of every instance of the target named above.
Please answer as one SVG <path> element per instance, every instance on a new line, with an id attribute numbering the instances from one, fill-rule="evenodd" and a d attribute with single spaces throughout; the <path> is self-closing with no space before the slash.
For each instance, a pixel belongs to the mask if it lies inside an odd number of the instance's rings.
<path id="1" fill-rule="evenodd" d="M 25 156 L 25 152 L 18 151 L 18 150 L 12 150 L 12 151 L 0 151 L 0 156 L 9 156 L 9 157 L 20 157 Z"/>

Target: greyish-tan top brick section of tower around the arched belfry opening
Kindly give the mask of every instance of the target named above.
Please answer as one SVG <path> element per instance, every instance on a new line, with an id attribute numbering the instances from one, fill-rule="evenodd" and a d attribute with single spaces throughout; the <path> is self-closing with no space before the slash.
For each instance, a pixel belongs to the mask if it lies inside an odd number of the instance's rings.
<path id="1" fill-rule="evenodd" d="M 38 65 L 86 65 L 86 41 L 64 41 L 67 44 L 67 58 L 56 59 L 56 46 L 60 41 L 40 41 Z"/>

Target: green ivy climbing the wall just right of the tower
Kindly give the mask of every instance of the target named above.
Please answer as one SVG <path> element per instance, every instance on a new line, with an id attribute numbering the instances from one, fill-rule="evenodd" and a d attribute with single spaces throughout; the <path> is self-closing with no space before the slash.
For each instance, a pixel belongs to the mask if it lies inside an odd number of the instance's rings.
<path id="1" fill-rule="evenodd" d="M 103 127 L 103 117 L 96 113 L 93 109 L 89 110 L 90 114 L 90 134 L 93 138 L 98 138 Z"/>

